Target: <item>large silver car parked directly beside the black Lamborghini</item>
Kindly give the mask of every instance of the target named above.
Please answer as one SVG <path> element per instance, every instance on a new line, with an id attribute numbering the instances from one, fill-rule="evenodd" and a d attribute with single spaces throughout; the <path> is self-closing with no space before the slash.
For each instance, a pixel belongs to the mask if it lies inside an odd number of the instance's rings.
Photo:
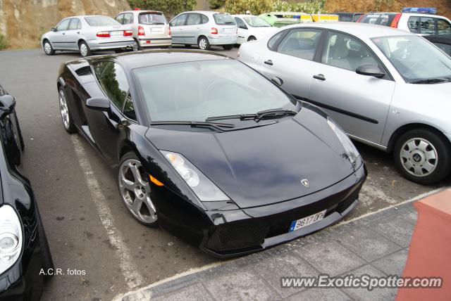
<path id="1" fill-rule="evenodd" d="M 352 139 L 393 152 L 407 179 L 432 184 L 450 174 L 451 58 L 426 39 L 309 23 L 242 44 L 239 59 L 326 110 Z"/>

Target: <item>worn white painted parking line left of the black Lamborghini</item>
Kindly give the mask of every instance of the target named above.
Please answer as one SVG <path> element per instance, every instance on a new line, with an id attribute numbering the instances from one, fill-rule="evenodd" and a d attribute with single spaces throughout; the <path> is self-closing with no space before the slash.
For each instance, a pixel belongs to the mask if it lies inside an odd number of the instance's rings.
<path id="1" fill-rule="evenodd" d="M 119 267 L 121 268 L 125 282 L 127 283 L 128 288 L 137 288 L 144 283 L 144 277 L 137 271 L 137 267 L 135 267 L 135 263 L 132 261 L 132 257 L 130 257 L 132 252 L 130 252 L 127 245 L 123 243 L 121 232 L 114 226 L 110 207 L 106 202 L 105 196 L 101 193 L 99 182 L 92 171 L 91 164 L 85 154 L 85 149 L 80 143 L 78 135 L 71 135 L 70 138 L 72 139 L 78 162 L 80 163 L 83 172 L 85 172 L 86 184 L 91 193 L 92 201 L 97 207 L 97 213 L 99 214 L 101 224 L 104 225 L 109 242 L 116 252 L 116 256 L 119 257 Z"/>

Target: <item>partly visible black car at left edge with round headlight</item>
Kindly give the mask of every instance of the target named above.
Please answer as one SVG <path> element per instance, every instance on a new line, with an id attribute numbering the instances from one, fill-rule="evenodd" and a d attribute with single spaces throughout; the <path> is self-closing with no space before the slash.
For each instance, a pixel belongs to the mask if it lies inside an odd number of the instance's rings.
<path id="1" fill-rule="evenodd" d="M 0 87 L 0 300 L 39 300 L 54 264 L 30 181 L 18 170 L 24 144 L 15 105 Z"/>

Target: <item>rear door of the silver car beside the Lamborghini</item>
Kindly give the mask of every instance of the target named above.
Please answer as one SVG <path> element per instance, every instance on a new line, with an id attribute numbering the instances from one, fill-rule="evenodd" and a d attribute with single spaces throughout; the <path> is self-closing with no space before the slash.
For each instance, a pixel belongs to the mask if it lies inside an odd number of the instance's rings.
<path id="1" fill-rule="evenodd" d="M 278 32 L 268 41 L 261 70 L 269 79 L 280 77 L 283 89 L 297 98 L 309 98 L 311 70 L 323 30 L 295 28 Z"/>

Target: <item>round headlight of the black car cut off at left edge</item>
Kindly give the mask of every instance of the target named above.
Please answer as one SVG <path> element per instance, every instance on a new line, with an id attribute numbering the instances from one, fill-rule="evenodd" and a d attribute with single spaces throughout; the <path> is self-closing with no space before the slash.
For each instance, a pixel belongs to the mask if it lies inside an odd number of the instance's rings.
<path id="1" fill-rule="evenodd" d="M 0 274 L 9 269 L 22 250 L 22 225 L 10 205 L 0 207 Z"/>

